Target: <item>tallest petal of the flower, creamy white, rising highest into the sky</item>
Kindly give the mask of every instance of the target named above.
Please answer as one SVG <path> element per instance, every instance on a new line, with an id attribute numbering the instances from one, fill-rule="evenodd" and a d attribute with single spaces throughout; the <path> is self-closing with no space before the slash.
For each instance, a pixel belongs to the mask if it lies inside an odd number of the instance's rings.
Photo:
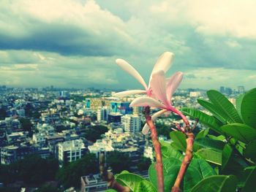
<path id="1" fill-rule="evenodd" d="M 154 65 L 154 68 L 151 72 L 150 79 L 149 79 L 149 85 L 151 84 L 152 75 L 155 72 L 159 72 L 159 71 L 167 72 L 167 70 L 170 69 L 170 66 L 173 61 L 173 57 L 174 57 L 174 54 L 170 53 L 170 52 L 165 52 L 159 56 L 156 64 Z M 149 85 L 148 85 L 148 87 L 149 87 Z"/>

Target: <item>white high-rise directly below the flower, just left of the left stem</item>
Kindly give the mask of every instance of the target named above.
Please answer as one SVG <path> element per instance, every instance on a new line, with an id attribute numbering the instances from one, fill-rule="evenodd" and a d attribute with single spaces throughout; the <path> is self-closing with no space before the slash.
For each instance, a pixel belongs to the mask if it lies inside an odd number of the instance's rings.
<path id="1" fill-rule="evenodd" d="M 138 115 L 124 115 L 121 117 L 121 123 L 126 132 L 135 134 L 141 129 L 141 120 Z"/>

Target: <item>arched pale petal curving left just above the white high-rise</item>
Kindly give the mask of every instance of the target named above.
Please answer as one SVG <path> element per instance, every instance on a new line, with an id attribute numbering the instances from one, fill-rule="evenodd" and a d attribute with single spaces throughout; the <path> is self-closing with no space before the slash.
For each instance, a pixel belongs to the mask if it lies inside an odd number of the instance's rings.
<path id="1" fill-rule="evenodd" d="M 166 108 L 165 105 L 161 104 L 156 99 L 152 99 L 146 96 L 140 96 L 134 99 L 131 104 L 129 104 L 129 107 L 140 107 L 140 106 L 143 106 L 143 107 L 150 106 L 150 107 L 157 107 L 162 109 Z"/>

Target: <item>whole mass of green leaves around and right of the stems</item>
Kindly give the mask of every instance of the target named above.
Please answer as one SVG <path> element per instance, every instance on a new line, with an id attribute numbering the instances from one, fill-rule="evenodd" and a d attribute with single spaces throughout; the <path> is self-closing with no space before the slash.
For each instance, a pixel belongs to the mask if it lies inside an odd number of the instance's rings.
<path id="1" fill-rule="evenodd" d="M 198 99 L 207 113 L 182 109 L 208 128 L 195 137 L 194 158 L 181 191 L 252 191 L 256 180 L 256 88 L 238 96 L 236 107 L 218 91 L 208 91 L 207 95 L 209 101 Z M 180 131 L 171 131 L 170 138 L 173 142 L 161 142 L 165 191 L 171 190 L 187 147 L 186 136 Z M 145 180 L 125 171 L 117 174 L 116 180 L 131 191 L 157 191 L 154 164 L 148 175 L 149 180 Z"/>

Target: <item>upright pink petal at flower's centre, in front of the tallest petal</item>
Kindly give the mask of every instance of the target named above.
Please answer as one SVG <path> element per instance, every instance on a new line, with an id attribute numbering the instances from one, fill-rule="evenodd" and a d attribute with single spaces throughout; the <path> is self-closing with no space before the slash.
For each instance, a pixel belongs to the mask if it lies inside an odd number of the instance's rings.
<path id="1" fill-rule="evenodd" d="M 151 89 L 154 93 L 154 95 L 159 99 L 160 101 L 165 104 L 165 106 L 168 106 L 168 100 L 166 98 L 166 82 L 165 82 L 165 72 L 160 71 L 157 73 L 154 73 L 152 75 L 151 80 Z"/>

